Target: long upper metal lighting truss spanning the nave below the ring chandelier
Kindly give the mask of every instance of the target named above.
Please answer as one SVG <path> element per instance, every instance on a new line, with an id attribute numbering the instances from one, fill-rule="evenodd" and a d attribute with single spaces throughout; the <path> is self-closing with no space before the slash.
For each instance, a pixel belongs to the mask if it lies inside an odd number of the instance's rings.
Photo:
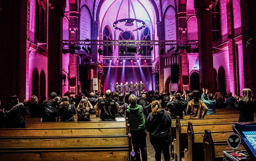
<path id="1" fill-rule="evenodd" d="M 155 46 L 198 45 L 198 40 L 63 40 L 63 45 Z"/>

